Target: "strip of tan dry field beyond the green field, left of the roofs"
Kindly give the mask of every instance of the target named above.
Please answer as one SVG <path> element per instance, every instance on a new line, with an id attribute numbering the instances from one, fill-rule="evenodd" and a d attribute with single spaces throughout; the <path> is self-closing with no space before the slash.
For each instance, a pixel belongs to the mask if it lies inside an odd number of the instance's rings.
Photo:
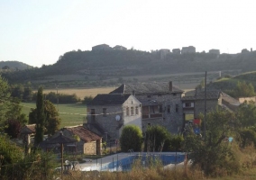
<path id="1" fill-rule="evenodd" d="M 59 88 L 59 94 L 77 94 L 78 98 L 84 99 L 85 96 L 93 96 L 96 94 L 108 94 L 116 87 L 96 87 L 96 88 Z M 43 93 L 48 94 L 50 92 L 57 93 L 57 89 L 44 89 Z"/>

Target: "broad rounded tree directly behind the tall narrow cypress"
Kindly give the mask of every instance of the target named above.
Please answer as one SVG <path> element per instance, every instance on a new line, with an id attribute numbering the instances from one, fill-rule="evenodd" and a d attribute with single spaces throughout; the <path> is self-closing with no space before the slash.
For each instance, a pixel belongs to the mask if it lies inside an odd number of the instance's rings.
<path id="1" fill-rule="evenodd" d="M 57 111 L 55 105 L 48 100 L 44 100 L 44 114 L 45 114 L 45 123 L 44 130 L 45 133 L 53 135 L 56 130 L 59 130 L 60 118 L 59 112 Z M 29 114 L 29 123 L 36 123 L 37 108 L 32 109 Z"/>

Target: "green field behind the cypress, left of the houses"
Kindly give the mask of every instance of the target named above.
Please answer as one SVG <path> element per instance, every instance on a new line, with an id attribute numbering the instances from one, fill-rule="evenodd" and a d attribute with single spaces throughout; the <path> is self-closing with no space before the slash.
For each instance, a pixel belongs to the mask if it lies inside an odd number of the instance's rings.
<path id="1" fill-rule="evenodd" d="M 29 116 L 31 108 L 36 106 L 35 103 L 22 103 L 22 105 L 23 113 L 27 116 Z M 87 114 L 87 107 L 82 103 L 55 104 L 55 106 L 59 109 L 60 128 L 82 124 Z"/>

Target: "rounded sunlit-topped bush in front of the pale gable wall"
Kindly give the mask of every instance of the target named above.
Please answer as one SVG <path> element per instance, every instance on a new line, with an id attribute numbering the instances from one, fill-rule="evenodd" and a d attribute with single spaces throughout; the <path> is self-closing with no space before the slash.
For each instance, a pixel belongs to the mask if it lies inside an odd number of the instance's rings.
<path id="1" fill-rule="evenodd" d="M 124 126 L 120 137 L 120 146 L 123 152 L 133 149 L 133 151 L 142 150 L 142 130 L 135 125 Z"/>

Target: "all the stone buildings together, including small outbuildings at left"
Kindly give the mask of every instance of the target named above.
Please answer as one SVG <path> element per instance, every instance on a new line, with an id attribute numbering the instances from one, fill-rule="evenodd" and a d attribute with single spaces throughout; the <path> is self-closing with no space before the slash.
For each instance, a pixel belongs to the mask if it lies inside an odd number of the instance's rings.
<path id="1" fill-rule="evenodd" d="M 205 107 L 206 99 L 206 107 Z M 59 143 L 52 139 L 77 138 L 76 142 L 64 144 L 69 152 L 90 155 L 102 153 L 102 141 L 118 141 L 123 127 L 138 126 L 145 132 L 149 126 L 160 125 L 172 134 L 183 133 L 189 121 L 198 122 L 199 113 L 224 108 L 234 111 L 239 101 L 221 91 L 195 90 L 184 93 L 169 82 L 123 84 L 109 94 L 97 94 L 87 105 L 87 121 L 84 124 L 61 129 L 39 145 L 45 150 L 59 149 Z M 35 134 L 35 124 L 27 125 L 21 131 L 27 149 Z M 61 138 L 61 139 L 60 139 Z M 56 141 L 56 140 L 55 140 Z M 29 150 L 27 150 L 29 152 Z"/>

